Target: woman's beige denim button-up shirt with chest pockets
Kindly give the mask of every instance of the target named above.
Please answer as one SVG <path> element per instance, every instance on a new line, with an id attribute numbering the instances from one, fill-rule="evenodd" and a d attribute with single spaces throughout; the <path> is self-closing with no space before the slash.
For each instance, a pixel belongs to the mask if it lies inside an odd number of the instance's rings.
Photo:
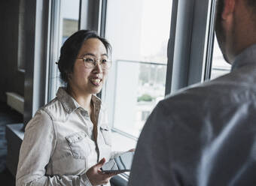
<path id="1" fill-rule="evenodd" d="M 105 108 L 93 95 L 97 140 L 87 110 L 60 88 L 56 98 L 26 125 L 16 185 L 91 185 L 85 172 L 111 152 L 111 130 Z M 109 185 L 109 184 L 108 184 Z"/>

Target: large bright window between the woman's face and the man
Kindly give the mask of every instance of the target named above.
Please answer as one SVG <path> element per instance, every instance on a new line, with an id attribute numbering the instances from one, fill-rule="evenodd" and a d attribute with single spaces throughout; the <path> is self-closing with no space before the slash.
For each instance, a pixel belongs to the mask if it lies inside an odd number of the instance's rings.
<path id="1" fill-rule="evenodd" d="M 113 52 L 102 98 L 113 124 L 114 150 L 134 148 L 133 139 L 165 96 L 171 10 L 172 0 L 108 1 L 105 37 Z"/>

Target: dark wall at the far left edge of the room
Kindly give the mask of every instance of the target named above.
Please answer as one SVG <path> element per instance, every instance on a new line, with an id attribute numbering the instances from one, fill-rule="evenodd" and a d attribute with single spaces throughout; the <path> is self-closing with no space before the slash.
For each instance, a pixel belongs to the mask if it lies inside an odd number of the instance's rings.
<path id="1" fill-rule="evenodd" d="M 24 95 L 24 74 L 17 71 L 19 0 L 0 1 L 0 101 L 5 92 Z"/>

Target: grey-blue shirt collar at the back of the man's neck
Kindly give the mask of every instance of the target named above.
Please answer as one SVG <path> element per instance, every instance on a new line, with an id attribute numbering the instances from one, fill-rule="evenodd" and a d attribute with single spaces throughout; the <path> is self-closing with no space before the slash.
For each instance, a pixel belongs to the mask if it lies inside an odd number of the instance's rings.
<path id="1" fill-rule="evenodd" d="M 256 44 L 249 46 L 247 49 L 242 51 L 242 53 L 236 56 L 231 71 L 250 65 L 251 63 L 256 63 Z"/>

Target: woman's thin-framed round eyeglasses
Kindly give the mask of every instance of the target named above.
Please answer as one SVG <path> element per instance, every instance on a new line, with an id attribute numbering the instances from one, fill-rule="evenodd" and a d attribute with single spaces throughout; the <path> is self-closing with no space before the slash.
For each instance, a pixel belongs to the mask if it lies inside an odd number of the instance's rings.
<path id="1" fill-rule="evenodd" d="M 93 58 L 92 56 L 85 55 L 83 58 L 78 58 L 84 60 L 85 68 L 94 68 L 96 66 L 96 62 L 99 62 L 102 70 L 107 70 L 111 67 L 111 61 L 108 58 Z"/>

